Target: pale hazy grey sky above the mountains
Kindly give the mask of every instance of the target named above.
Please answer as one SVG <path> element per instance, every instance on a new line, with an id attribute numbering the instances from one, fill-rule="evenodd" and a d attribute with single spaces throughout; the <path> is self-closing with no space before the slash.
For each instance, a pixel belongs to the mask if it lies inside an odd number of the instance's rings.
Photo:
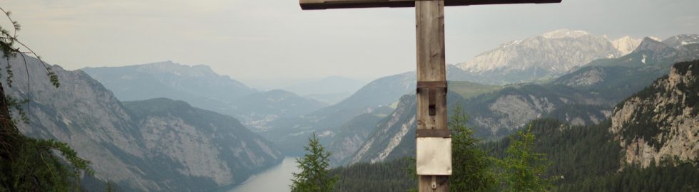
<path id="1" fill-rule="evenodd" d="M 173 60 L 250 85 L 415 68 L 414 9 L 301 11 L 297 0 L 0 0 L 20 39 L 67 69 Z M 697 0 L 454 6 L 447 63 L 558 28 L 610 38 L 699 33 Z M 2 21 L 2 26 L 7 22 Z"/>

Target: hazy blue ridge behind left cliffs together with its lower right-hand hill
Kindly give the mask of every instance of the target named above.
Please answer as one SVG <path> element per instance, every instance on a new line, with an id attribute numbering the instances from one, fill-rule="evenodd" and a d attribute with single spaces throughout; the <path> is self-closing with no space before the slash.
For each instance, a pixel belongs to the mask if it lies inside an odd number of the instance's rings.
<path id="1" fill-rule="evenodd" d="M 123 67 L 83 68 L 120 100 L 158 97 L 183 100 L 195 107 L 228 114 L 253 131 L 267 129 L 280 117 L 297 117 L 327 104 L 284 90 L 260 92 L 206 65 L 171 61 Z"/>

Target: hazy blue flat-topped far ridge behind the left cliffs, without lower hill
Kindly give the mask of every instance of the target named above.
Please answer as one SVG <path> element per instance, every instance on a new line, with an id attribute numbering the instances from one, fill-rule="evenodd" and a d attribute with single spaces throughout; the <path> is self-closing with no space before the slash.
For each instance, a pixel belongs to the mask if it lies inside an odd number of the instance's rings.
<path id="1" fill-rule="evenodd" d="M 180 65 L 172 61 L 123 67 L 82 68 L 119 100 L 147 100 L 168 97 L 175 100 L 224 102 L 256 92 L 207 65 Z M 198 102 L 190 102 L 199 105 Z"/>

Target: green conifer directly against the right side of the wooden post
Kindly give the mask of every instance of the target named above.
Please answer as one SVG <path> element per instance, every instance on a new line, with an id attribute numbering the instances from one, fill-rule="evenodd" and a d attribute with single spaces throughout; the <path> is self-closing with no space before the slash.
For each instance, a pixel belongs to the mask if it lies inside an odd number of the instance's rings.
<path id="1" fill-rule="evenodd" d="M 473 136 L 473 129 L 466 126 L 469 117 L 461 111 L 461 105 L 457 104 L 452 112 L 449 121 L 453 162 L 450 191 L 495 191 L 495 159 L 476 146 L 481 141 Z"/>

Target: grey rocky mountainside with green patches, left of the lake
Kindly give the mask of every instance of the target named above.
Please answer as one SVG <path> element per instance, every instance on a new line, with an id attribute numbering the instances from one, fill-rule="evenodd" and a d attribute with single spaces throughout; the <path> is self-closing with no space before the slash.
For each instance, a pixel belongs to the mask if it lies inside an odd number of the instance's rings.
<path id="1" fill-rule="evenodd" d="M 29 80 L 21 58 L 14 58 L 13 86 L 5 89 L 30 100 L 25 109 L 30 122 L 20 123 L 21 131 L 68 143 L 92 162 L 96 178 L 123 190 L 206 191 L 240 183 L 282 158 L 232 117 L 179 102 L 136 104 L 159 107 L 158 112 L 126 107 L 86 73 L 56 65 L 52 70 L 61 87 L 55 88 L 41 63 L 27 60 Z"/>

